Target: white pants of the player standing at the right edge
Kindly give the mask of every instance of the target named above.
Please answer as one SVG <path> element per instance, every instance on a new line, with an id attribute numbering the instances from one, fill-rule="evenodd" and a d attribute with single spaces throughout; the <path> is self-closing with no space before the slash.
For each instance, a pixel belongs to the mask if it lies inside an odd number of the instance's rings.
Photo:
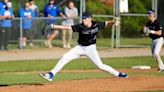
<path id="1" fill-rule="evenodd" d="M 151 51 L 152 51 L 152 55 L 154 56 L 154 58 L 156 59 L 158 63 L 159 69 L 164 69 L 164 64 L 160 57 L 160 51 L 161 51 L 162 45 L 163 45 L 163 37 L 152 40 Z"/>

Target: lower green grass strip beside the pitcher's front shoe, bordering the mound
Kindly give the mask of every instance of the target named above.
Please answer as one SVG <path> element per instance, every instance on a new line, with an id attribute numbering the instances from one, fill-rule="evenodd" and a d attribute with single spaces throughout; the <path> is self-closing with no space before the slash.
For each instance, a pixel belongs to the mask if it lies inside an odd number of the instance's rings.
<path id="1" fill-rule="evenodd" d="M 54 81 L 79 80 L 88 78 L 103 78 L 111 76 L 105 72 L 98 73 L 58 73 Z M 17 85 L 17 84 L 42 84 L 47 82 L 39 77 L 36 73 L 28 74 L 0 74 L 0 85 Z"/>

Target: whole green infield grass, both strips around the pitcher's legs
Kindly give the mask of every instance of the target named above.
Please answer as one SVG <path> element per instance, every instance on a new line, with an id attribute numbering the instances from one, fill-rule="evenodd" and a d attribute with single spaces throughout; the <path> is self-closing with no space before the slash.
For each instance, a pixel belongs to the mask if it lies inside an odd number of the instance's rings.
<path id="1" fill-rule="evenodd" d="M 164 58 L 164 57 L 163 57 Z M 130 68 L 134 65 L 149 65 L 156 67 L 152 57 L 129 57 L 129 58 L 103 58 L 105 64 L 114 68 Z M 0 62 L 0 85 L 40 84 L 46 81 L 38 76 L 39 71 L 49 71 L 57 60 L 29 60 Z M 77 59 L 70 62 L 63 70 L 90 70 L 96 69 L 88 59 Z M 164 76 L 158 72 L 128 72 L 130 76 Z M 103 78 L 112 76 L 106 72 L 60 72 L 54 81 Z"/>

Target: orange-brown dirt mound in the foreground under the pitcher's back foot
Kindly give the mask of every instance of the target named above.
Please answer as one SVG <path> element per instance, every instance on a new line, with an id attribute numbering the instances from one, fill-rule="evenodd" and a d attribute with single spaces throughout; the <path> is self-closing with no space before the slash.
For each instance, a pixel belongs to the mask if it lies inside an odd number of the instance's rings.
<path id="1" fill-rule="evenodd" d="M 42 85 L 0 87 L 0 92 L 122 92 L 164 90 L 164 78 L 130 76 L 51 82 Z"/>

